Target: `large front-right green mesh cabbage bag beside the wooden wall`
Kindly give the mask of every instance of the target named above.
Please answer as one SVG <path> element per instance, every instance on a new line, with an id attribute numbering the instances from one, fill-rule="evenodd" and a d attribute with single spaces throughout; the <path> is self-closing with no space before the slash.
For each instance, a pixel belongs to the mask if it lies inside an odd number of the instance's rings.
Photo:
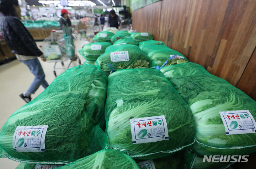
<path id="1" fill-rule="evenodd" d="M 253 99 L 195 63 L 166 66 L 161 71 L 190 105 L 196 124 L 193 150 L 197 154 L 243 155 L 256 152 L 256 133 L 250 128 L 256 118 Z M 239 130 L 240 134 L 234 133 Z"/>

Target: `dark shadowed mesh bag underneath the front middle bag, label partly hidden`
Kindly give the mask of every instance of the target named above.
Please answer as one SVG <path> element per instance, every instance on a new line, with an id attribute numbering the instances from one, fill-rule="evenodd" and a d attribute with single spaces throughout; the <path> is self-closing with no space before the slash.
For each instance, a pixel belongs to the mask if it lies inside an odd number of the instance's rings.
<path id="1" fill-rule="evenodd" d="M 181 151 L 175 155 L 153 160 L 135 160 L 142 169 L 192 169 L 196 155 Z"/>

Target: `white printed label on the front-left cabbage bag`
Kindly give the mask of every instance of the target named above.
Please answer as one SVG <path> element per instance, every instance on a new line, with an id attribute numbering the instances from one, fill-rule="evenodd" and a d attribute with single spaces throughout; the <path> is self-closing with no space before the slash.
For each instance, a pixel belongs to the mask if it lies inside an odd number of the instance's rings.
<path id="1" fill-rule="evenodd" d="M 48 125 L 17 126 L 12 138 L 12 147 L 18 152 L 46 151 L 44 139 Z"/>

